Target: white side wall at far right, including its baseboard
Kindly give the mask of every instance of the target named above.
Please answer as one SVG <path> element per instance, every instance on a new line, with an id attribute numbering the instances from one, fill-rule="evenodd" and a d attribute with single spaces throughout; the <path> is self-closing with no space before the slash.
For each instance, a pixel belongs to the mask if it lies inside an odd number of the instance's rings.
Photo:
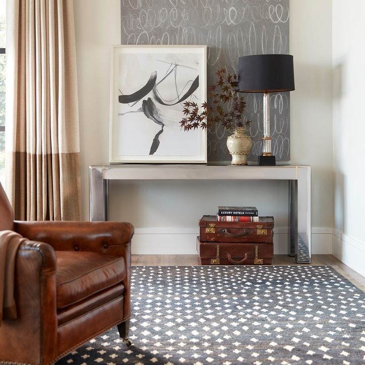
<path id="1" fill-rule="evenodd" d="M 333 253 L 365 276 L 365 1 L 333 0 Z"/>

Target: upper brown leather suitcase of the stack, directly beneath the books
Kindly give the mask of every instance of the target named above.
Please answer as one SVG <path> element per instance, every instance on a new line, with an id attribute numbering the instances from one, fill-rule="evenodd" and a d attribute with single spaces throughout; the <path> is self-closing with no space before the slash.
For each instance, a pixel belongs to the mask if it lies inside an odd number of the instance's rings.
<path id="1" fill-rule="evenodd" d="M 215 215 L 199 220 L 200 242 L 273 243 L 274 217 L 258 222 L 218 222 Z"/>

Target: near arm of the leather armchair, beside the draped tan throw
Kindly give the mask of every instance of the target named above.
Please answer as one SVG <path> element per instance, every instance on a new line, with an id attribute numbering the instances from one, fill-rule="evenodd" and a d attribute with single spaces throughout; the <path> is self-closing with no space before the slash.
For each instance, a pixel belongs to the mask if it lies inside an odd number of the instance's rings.
<path id="1" fill-rule="evenodd" d="M 47 243 L 23 242 L 17 251 L 14 277 L 17 318 L 4 320 L 0 331 L 0 364 L 45 364 L 56 356 L 56 254 Z M 29 349 L 19 353 L 19 344 Z"/>

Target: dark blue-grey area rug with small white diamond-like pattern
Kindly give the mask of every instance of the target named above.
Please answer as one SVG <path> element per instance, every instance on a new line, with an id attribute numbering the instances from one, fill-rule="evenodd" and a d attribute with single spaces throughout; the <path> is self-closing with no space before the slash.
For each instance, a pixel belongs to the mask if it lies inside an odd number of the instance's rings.
<path id="1" fill-rule="evenodd" d="M 133 267 L 117 328 L 60 365 L 365 364 L 365 294 L 328 266 Z"/>

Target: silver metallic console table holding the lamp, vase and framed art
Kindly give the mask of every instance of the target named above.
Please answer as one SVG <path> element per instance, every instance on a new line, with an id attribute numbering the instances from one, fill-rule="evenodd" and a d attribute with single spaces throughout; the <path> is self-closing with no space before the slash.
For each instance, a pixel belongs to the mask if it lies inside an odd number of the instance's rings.
<path id="1" fill-rule="evenodd" d="M 100 165 L 90 166 L 90 220 L 108 220 L 109 180 L 287 180 L 288 254 L 310 263 L 310 166 Z"/>

